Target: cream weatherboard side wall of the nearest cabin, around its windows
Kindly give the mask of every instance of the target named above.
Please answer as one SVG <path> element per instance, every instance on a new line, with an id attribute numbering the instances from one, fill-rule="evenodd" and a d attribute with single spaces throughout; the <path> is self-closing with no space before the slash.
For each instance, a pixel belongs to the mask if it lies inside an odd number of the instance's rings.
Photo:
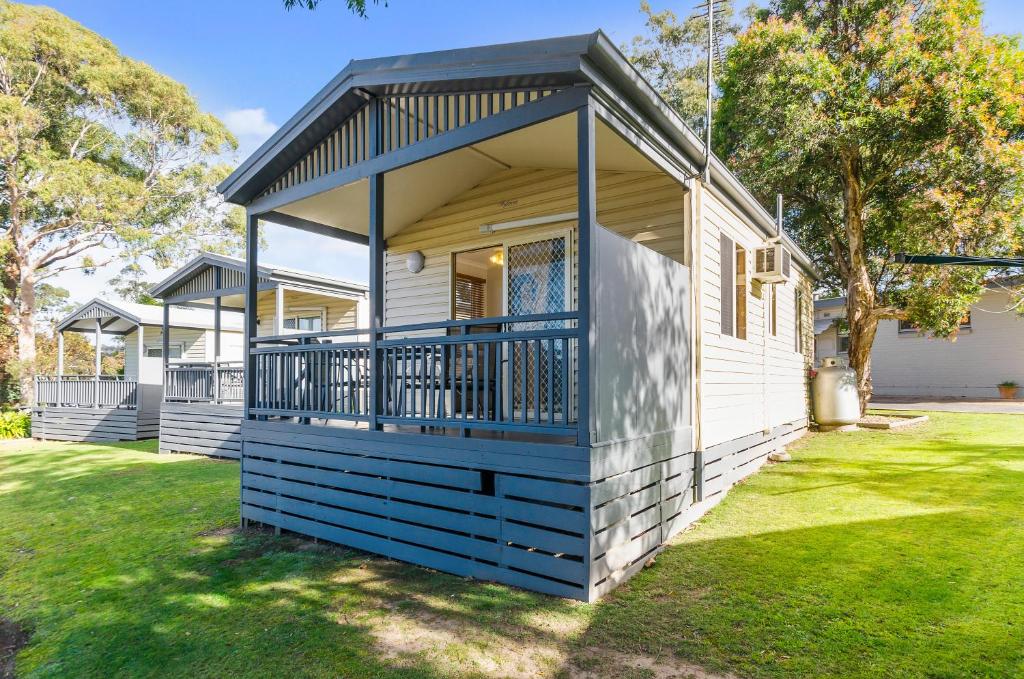
<path id="1" fill-rule="evenodd" d="M 754 249 L 764 237 L 735 212 L 702 190 L 703 241 L 702 390 L 703 447 L 764 431 L 807 417 L 804 355 L 796 350 L 796 290 L 803 280 L 775 285 L 777 334 L 768 331 L 769 286 L 750 281 Z M 720 236 L 725 234 L 746 250 L 746 339 L 721 333 Z"/>

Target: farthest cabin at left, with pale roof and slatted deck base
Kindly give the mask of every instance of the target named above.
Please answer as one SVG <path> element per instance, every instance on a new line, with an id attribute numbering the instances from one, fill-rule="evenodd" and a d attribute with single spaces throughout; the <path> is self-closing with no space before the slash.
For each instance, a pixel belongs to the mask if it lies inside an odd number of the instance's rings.
<path id="1" fill-rule="evenodd" d="M 219 322 L 205 309 L 177 308 L 93 299 L 56 325 L 56 375 L 37 375 L 32 435 L 51 440 L 136 440 L 154 438 L 160 427 L 162 366 L 209 362 L 215 338 L 225 337 L 224 355 L 241 362 L 243 314 L 229 312 Z M 221 324 L 221 325 L 218 325 Z M 216 327 L 215 327 L 216 326 Z M 92 338 L 90 374 L 65 371 L 65 334 Z M 124 374 L 103 375 L 102 346 L 120 338 Z"/>

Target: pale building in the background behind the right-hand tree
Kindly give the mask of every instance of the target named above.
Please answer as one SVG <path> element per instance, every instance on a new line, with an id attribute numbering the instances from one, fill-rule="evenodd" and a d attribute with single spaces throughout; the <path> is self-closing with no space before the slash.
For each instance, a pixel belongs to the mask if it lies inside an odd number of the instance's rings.
<path id="1" fill-rule="evenodd" d="M 871 346 L 874 395 L 995 398 L 1000 383 L 1024 384 L 1024 319 L 1016 309 L 1016 284 L 988 282 L 961 321 L 955 340 L 933 337 L 906 321 L 879 322 Z M 815 300 L 815 359 L 848 360 L 849 341 L 846 298 Z"/>

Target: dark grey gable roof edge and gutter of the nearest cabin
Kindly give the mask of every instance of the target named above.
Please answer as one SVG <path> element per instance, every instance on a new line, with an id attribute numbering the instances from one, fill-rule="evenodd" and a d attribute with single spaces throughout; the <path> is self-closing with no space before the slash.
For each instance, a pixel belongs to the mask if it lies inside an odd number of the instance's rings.
<path id="1" fill-rule="evenodd" d="M 231 203 L 246 205 L 374 95 L 431 93 L 587 84 L 613 101 L 625 96 L 688 161 L 703 164 L 702 141 L 657 94 L 601 31 L 575 36 L 402 54 L 349 61 L 218 186 Z M 728 198 L 766 237 L 775 218 L 725 164 L 712 157 L 713 187 Z M 786 235 L 795 260 L 817 274 Z"/>

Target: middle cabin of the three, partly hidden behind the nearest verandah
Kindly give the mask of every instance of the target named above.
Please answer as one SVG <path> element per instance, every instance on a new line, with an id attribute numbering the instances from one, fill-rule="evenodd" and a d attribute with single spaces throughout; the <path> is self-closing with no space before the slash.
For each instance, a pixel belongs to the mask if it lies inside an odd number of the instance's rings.
<path id="1" fill-rule="evenodd" d="M 150 293 L 164 303 L 165 323 L 181 309 L 204 308 L 215 320 L 212 351 L 200 360 L 163 367 L 160 452 L 238 459 L 241 450 L 244 365 L 237 332 L 222 333 L 225 314 L 245 309 L 245 261 L 201 253 Z M 294 268 L 261 264 L 258 269 L 257 336 L 339 331 L 366 325 L 366 285 Z M 241 324 L 240 324 L 241 325 Z M 173 338 L 173 334 L 171 335 Z"/>

